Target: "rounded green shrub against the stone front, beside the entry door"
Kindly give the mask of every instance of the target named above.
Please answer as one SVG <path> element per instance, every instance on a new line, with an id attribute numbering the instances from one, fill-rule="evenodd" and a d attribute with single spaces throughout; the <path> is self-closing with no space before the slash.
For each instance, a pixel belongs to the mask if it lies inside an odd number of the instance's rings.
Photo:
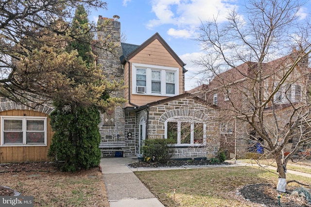
<path id="1" fill-rule="evenodd" d="M 142 154 L 146 162 L 166 163 L 173 157 L 170 139 L 148 139 L 142 146 Z"/>

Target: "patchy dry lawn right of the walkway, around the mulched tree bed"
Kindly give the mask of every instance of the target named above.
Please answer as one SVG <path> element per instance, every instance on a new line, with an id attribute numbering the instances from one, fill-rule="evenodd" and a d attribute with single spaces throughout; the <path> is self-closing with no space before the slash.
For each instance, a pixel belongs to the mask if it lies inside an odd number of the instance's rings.
<path id="1" fill-rule="evenodd" d="M 247 184 L 277 183 L 275 174 L 262 171 L 258 167 L 221 167 L 135 174 L 166 207 L 254 207 L 254 203 L 236 194 L 237 189 Z M 299 180 L 299 177 L 294 178 Z M 310 184 L 311 179 L 304 178 L 303 182 Z M 173 189 L 176 189 L 175 195 Z"/>

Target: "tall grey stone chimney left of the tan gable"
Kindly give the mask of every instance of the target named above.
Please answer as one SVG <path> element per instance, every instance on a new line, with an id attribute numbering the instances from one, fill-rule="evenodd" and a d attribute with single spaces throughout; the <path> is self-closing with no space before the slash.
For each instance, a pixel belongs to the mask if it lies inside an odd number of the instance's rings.
<path id="1" fill-rule="evenodd" d="M 98 16 L 97 26 L 97 44 L 101 48 L 97 48 L 98 55 L 97 64 L 100 64 L 103 69 L 103 74 L 106 80 L 120 82 L 124 80 L 124 73 L 120 56 L 122 53 L 120 31 L 121 23 L 118 21 L 119 16 L 107 18 Z M 114 47 L 110 47 L 113 43 Z M 111 92 L 110 96 L 124 97 L 124 90 L 117 89 Z M 101 114 L 100 133 L 102 142 L 107 141 L 124 141 L 124 110 L 123 106 L 116 106 L 115 109 Z M 118 137 L 117 137 L 118 135 Z"/>

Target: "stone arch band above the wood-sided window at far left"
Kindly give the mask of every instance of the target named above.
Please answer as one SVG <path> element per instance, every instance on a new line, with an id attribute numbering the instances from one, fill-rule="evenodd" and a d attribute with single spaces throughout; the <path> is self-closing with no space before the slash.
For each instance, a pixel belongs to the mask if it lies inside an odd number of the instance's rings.
<path id="1" fill-rule="evenodd" d="M 35 103 L 32 103 L 31 105 L 34 105 L 34 107 L 25 106 L 23 104 L 18 104 L 14 101 L 6 101 L 0 103 L 0 112 L 2 111 L 10 111 L 10 110 L 29 110 L 29 111 L 38 111 L 41 113 L 46 113 L 50 115 L 54 109 L 47 105 L 39 105 L 36 106 Z"/>

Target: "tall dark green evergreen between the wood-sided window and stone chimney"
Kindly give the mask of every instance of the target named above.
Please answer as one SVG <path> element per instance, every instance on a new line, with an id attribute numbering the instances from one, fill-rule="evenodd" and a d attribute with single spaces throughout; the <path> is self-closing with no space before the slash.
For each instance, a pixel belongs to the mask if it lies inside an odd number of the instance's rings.
<path id="1" fill-rule="evenodd" d="M 77 7 L 72 23 L 72 36 L 68 52 L 77 50 L 79 58 L 87 67 L 93 67 L 94 58 L 90 47 L 88 20 L 85 8 Z M 73 74 L 76 71 L 71 71 Z M 84 81 L 83 78 L 81 81 Z M 85 80 L 86 81 L 86 80 Z M 95 104 L 82 105 L 74 100 L 55 103 L 56 110 L 51 115 L 51 125 L 55 134 L 49 155 L 65 161 L 63 171 L 76 171 L 98 166 L 101 159 L 99 143 L 101 135 L 99 109 Z"/>

